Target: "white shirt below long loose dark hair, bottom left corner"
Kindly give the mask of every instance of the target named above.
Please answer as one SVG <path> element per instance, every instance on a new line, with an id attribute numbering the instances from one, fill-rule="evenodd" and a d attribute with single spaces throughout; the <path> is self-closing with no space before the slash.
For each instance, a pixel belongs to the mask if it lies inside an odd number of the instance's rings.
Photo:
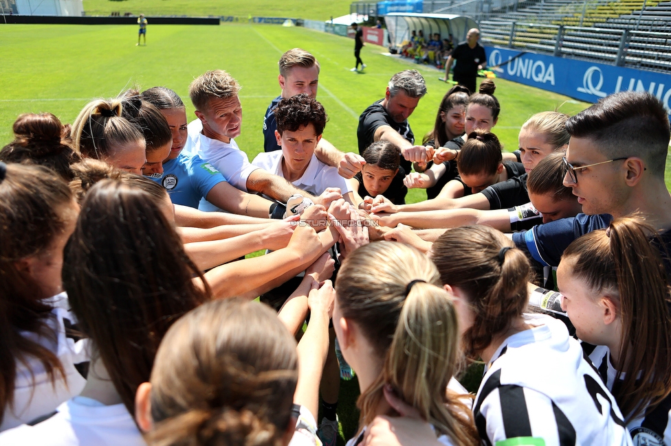
<path id="1" fill-rule="evenodd" d="M 104 406 L 85 397 L 61 404 L 58 412 L 34 426 L 0 434 L 3 446 L 146 446 L 123 404 Z"/>

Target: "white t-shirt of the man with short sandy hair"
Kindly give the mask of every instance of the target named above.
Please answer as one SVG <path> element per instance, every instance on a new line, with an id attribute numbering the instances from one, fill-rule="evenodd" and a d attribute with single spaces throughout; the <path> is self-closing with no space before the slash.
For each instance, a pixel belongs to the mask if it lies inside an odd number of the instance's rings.
<path id="1" fill-rule="evenodd" d="M 183 152 L 199 155 L 221 172 L 230 185 L 247 192 L 247 179 L 259 167 L 250 164 L 247 154 L 240 150 L 234 139 L 224 143 L 206 137 L 201 133 L 203 124 L 200 119 L 191 121 L 187 128 L 188 139 Z"/>

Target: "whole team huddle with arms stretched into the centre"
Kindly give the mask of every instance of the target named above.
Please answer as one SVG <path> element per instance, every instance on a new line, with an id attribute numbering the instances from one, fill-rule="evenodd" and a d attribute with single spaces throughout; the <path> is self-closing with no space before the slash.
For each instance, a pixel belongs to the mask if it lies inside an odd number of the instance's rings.
<path id="1" fill-rule="evenodd" d="M 426 84 L 405 70 L 344 152 L 318 61 L 278 66 L 251 162 L 221 70 L 190 84 L 192 121 L 155 86 L 14 122 L 1 445 L 331 446 L 356 375 L 348 446 L 671 446 L 659 99 L 537 113 L 504 153 L 492 80 L 445 93 L 416 141 Z"/>

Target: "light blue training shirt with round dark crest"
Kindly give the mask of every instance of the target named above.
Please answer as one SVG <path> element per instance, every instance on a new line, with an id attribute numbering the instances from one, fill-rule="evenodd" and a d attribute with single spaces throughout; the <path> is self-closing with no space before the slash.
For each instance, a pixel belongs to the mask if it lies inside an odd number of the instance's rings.
<path id="1" fill-rule="evenodd" d="M 163 164 L 162 174 L 152 174 L 151 178 L 162 185 L 173 204 L 198 209 L 201 198 L 208 196 L 212 187 L 226 178 L 210 163 L 198 155 L 179 154 Z"/>

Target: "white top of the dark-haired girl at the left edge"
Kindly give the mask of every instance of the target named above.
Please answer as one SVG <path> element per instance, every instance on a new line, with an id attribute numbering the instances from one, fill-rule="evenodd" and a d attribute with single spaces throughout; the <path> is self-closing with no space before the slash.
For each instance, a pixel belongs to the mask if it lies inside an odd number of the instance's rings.
<path id="1" fill-rule="evenodd" d="M 56 333 L 56 339 L 43 338 L 35 333 L 21 334 L 52 351 L 63 364 L 66 379 L 63 380 L 61 374 L 55 372 L 56 379 L 52 384 L 42 362 L 36 357 L 28 357 L 28 367 L 17 361 L 14 405 L 5 408 L 0 432 L 53 412 L 63 401 L 78 395 L 86 384 L 86 379 L 77 371 L 75 364 L 89 360 L 90 354 L 86 348 L 88 341 L 75 341 L 65 334 L 66 325 L 76 322 L 74 316 L 65 309 L 68 306 L 65 293 L 58 294 L 49 301 L 52 305 L 57 305 L 52 310 L 52 317 L 47 320 L 47 325 Z"/>

